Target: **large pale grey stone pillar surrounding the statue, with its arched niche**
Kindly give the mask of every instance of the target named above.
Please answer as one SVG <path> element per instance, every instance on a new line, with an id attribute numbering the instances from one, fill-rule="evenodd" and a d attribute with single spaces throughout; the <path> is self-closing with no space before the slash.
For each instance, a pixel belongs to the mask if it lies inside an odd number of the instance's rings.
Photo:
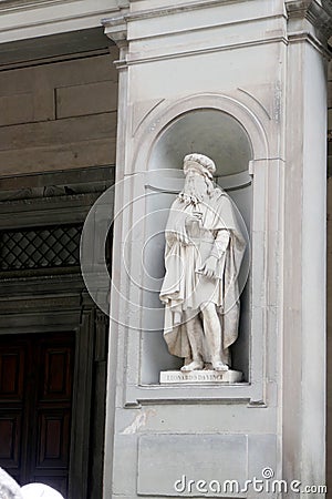
<path id="1" fill-rule="evenodd" d="M 329 19 L 328 2 L 309 0 L 133 0 L 104 21 L 121 45 L 107 499 L 228 497 L 230 487 L 299 497 L 292 480 L 324 485 Z M 163 386 L 158 369 L 176 360 L 141 259 L 179 185 L 160 169 L 214 151 L 227 176 L 239 150 L 245 169 L 232 173 L 251 190 L 245 379 Z M 160 269 L 158 243 L 151 255 Z M 288 489 L 271 493 L 271 478 Z M 238 489 L 222 491 L 227 480 Z"/>

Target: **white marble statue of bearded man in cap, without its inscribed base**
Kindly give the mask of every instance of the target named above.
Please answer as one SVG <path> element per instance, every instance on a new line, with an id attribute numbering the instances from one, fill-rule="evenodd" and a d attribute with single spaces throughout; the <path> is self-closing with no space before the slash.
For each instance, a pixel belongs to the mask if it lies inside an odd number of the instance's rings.
<path id="1" fill-rule="evenodd" d="M 246 249 L 232 202 L 216 187 L 212 160 L 184 159 L 185 186 L 174 201 L 165 231 L 164 337 L 181 371 L 230 367 L 238 336 L 238 275 Z"/>

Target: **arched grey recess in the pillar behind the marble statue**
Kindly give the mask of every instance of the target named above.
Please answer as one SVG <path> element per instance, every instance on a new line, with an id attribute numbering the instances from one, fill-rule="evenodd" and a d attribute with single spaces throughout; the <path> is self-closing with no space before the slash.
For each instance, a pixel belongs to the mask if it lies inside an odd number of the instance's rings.
<path id="1" fill-rule="evenodd" d="M 248 173 L 252 146 L 243 126 L 229 113 L 217 109 L 196 109 L 172 120 L 158 134 L 148 160 L 146 183 L 145 282 L 143 292 L 143 334 L 141 383 L 158 383 L 160 370 L 178 369 L 181 360 L 168 354 L 163 338 L 164 309 L 158 293 L 165 273 L 164 230 L 168 208 L 184 184 L 183 160 L 198 152 L 211 157 L 217 166 L 215 181 L 225 189 L 239 210 L 243 231 L 250 234 L 252 185 Z M 240 286 L 241 315 L 239 338 L 232 346 L 232 367 L 249 380 L 250 296 L 246 268 L 250 261 L 250 242 L 242 264 Z M 245 283 L 247 283 L 245 285 Z"/>

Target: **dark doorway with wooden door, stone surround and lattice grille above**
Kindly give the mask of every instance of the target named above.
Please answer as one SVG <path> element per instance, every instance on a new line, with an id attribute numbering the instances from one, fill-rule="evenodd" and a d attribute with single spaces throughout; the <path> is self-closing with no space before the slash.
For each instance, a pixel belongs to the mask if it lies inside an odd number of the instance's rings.
<path id="1" fill-rule="evenodd" d="M 108 319 L 85 291 L 80 235 L 113 174 L 105 166 L 0 179 L 0 354 L 15 352 L 0 366 L 0 466 L 66 499 L 103 493 Z M 22 198 L 12 193 L 19 186 Z M 48 359 L 53 347 L 70 354 Z M 51 393 L 48 360 L 59 388 Z"/>

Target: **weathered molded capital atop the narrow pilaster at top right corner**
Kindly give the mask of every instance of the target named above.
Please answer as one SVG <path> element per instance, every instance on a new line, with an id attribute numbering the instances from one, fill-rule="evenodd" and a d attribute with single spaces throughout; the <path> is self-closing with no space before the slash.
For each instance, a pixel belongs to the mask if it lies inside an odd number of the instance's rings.
<path id="1" fill-rule="evenodd" d="M 289 20 L 307 19 L 320 33 L 320 39 L 328 41 L 332 34 L 332 0 L 289 0 L 286 1 Z"/>

